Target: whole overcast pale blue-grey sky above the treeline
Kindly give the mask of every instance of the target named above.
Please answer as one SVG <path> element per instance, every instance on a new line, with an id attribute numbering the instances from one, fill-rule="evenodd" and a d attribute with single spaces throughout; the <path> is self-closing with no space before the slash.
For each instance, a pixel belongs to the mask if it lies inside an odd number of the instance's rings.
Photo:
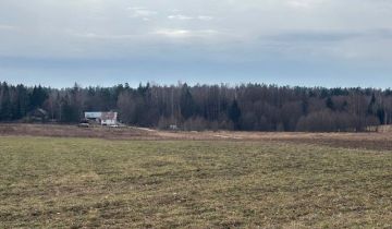
<path id="1" fill-rule="evenodd" d="M 391 0 L 0 0 L 0 81 L 389 87 Z"/>

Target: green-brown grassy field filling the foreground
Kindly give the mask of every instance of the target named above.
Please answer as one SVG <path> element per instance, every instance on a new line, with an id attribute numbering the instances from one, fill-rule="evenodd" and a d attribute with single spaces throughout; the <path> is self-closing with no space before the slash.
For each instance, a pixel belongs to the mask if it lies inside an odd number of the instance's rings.
<path id="1" fill-rule="evenodd" d="M 392 153 L 0 137 L 0 228 L 392 227 Z"/>

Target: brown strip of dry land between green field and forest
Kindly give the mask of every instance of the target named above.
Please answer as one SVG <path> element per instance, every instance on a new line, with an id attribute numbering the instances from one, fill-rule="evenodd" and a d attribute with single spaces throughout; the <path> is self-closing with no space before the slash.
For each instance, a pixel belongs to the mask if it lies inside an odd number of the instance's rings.
<path id="1" fill-rule="evenodd" d="M 0 136 L 97 137 L 108 140 L 277 141 L 333 147 L 392 150 L 391 133 L 167 132 L 138 128 L 0 124 Z"/>

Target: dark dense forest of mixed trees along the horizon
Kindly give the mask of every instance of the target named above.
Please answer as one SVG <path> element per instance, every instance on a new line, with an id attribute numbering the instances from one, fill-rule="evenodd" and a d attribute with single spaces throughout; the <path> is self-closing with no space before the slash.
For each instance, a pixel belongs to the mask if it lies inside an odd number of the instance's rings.
<path id="1" fill-rule="evenodd" d="M 77 123 L 84 111 L 118 111 L 131 125 L 182 130 L 366 131 L 392 122 L 392 91 L 265 84 L 49 88 L 0 82 L 0 121 Z"/>

